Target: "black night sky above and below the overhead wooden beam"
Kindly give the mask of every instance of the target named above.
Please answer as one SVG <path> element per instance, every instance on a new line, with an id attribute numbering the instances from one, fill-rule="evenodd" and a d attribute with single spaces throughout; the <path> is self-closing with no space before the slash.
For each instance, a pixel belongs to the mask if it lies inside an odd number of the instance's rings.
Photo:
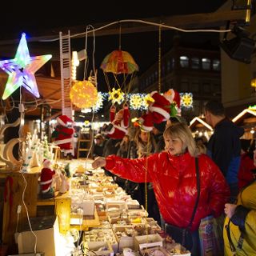
<path id="1" fill-rule="evenodd" d="M 2 22 L 0 23 L 0 41 L 6 39 L 18 39 L 22 32 L 30 37 L 44 36 L 45 31 L 56 31 L 58 37 L 58 28 L 70 26 L 86 26 L 97 22 L 114 22 L 120 19 L 133 18 L 153 18 L 168 15 L 197 14 L 214 12 L 219 6 L 226 2 L 224 0 L 179 0 L 179 1 L 157 1 L 150 3 L 148 1 L 78 1 L 73 0 L 68 5 L 60 1 L 41 1 L 34 2 L 28 6 L 26 2 L 11 2 L 6 4 L 2 11 Z M 138 3 L 140 6 L 138 6 Z M 2 9 L 3 10 L 3 9 Z M 198 21 L 199 22 L 199 21 Z M 118 27 L 117 27 L 118 29 Z M 162 54 L 170 50 L 173 30 L 162 32 Z M 182 41 L 195 44 L 213 44 L 218 45 L 218 34 L 180 34 Z M 85 48 L 85 38 L 72 39 L 72 50 L 82 50 Z M 44 48 L 51 44 L 41 43 Z M 30 48 L 30 43 L 28 43 Z M 1 47 L 1 46 L 0 46 Z M 113 50 L 118 49 L 118 34 L 111 36 L 96 37 L 95 48 L 95 66 L 99 66 L 106 56 Z M 139 66 L 139 74 L 142 74 L 154 62 L 158 61 L 158 31 L 122 34 L 122 50 L 128 51 Z M 92 38 L 88 38 L 87 53 L 91 65 L 93 56 Z M 1 52 L 1 51 L 0 51 Z M 0 56 L 2 57 L 2 56 Z M 89 69 L 91 66 L 89 67 Z M 82 68 L 83 69 L 83 68 Z M 83 72 L 78 72 L 79 79 Z M 102 78 L 102 70 L 98 72 Z M 106 85 L 105 85 L 106 86 Z M 104 88 L 102 86 L 102 90 Z"/>

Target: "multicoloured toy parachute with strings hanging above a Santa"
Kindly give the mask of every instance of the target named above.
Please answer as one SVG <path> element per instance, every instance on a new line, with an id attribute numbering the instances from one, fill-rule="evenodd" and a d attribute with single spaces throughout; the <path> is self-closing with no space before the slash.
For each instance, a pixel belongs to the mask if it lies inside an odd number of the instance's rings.
<path id="1" fill-rule="evenodd" d="M 113 89 L 120 89 L 127 95 L 134 79 L 134 74 L 138 72 L 138 65 L 128 52 L 114 50 L 103 59 L 101 69 L 105 75 L 110 94 Z M 120 104 L 120 101 L 113 101 L 112 97 L 109 99 L 112 100 L 113 104 L 115 102 Z"/>

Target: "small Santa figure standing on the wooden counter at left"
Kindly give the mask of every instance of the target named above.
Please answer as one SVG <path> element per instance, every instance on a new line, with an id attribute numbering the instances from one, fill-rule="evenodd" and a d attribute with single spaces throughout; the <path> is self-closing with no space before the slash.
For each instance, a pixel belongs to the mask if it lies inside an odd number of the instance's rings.
<path id="1" fill-rule="evenodd" d="M 45 159 L 42 162 L 42 170 L 40 176 L 40 186 L 41 186 L 41 194 L 42 198 L 53 198 L 54 197 L 54 189 L 52 187 L 53 176 L 55 174 L 55 170 L 50 169 L 50 160 Z"/>

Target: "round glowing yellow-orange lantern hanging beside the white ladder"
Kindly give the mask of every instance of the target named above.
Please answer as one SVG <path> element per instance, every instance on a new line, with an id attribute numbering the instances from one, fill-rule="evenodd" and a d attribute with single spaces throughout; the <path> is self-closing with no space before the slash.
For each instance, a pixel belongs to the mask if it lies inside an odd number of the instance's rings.
<path id="1" fill-rule="evenodd" d="M 97 102 L 98 91 L 91 82 L 78 81 L 70 90 L 70 99 L 75 106 L 81 109 L 90 108 Z"/>

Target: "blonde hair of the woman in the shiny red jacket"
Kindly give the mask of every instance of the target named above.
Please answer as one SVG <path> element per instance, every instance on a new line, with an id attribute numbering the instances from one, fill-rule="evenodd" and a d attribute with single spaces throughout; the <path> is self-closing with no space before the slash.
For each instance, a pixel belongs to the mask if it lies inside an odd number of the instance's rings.
<path id="1" fill-rule="evenodd" d="M 187 149 L 192 157 L 197 157 L 200 154 L 190 128 L 183 122 L 177 122 L 169 126 L 164 131 L 163 137 L 179 138 L 183 143 L 183 150 Z"/>

